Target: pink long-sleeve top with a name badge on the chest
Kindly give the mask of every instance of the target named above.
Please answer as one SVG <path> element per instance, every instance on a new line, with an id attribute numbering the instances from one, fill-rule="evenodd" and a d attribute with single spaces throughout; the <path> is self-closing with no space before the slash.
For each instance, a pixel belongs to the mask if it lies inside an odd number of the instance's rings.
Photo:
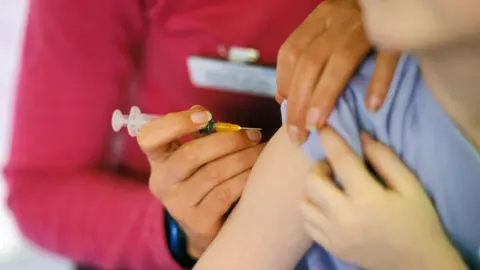
<path id="1" fill-rule="evenodd" d="M 177 269 L 163 208 L 116 108 L 167 113 L 194 104 L 219 120 L 280 124 L 274 101 L 198 89 L 190 55 L 253 47 L 261 64 L 318 0 L 32 0 L 16 93 L 8 204 L 35 244 L 104 269 Z"/>

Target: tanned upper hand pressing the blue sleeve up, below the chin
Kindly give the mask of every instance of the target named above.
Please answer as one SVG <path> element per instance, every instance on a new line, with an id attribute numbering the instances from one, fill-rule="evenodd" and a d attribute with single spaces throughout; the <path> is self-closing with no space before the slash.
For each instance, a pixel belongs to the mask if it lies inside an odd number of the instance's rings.
<path id="1" fill-rule="evenodd" d="M 277 101 L 288 99 L 290 139 L 300 143 L 308 129 L 323 126 L 358 65 L 372 50 L 356 0 L 321 3 L 282 45 L 277 60 Z M 383 103 L 399 54 L 380 51 L 366 103 Z"/>

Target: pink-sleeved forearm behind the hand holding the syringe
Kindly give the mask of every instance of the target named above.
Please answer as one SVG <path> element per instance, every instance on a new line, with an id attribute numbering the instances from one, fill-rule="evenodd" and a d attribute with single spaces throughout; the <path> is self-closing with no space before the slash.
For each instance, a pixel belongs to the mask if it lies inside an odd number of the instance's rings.
<path id="1" fill-rule="evenodd" d="M 177 269 L 165 243 L 163 207 L 141 185 L 96 171 L 6 170 L 9 207 L 35 244 L 76 262 Z"/>

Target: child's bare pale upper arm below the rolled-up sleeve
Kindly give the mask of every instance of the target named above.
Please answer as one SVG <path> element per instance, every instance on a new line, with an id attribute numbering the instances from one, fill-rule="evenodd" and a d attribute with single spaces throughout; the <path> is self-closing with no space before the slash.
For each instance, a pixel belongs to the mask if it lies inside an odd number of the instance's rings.
<path id="1" fill-rule="evenodd" d="M 277 131 L 235 211 L 195 269 L 293 269 L 312 245 L 298 211 L 311 164 L 283 127 Z"/>

